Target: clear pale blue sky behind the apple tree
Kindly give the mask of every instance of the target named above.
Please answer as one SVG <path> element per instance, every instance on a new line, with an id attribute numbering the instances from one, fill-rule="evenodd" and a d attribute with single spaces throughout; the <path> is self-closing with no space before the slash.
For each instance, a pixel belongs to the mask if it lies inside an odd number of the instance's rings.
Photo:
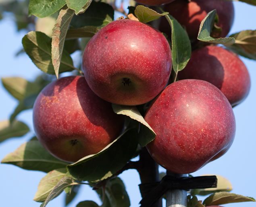
<path id="1" fill-rule="evenodd" d="M 234 2 L 235 22 L 230 33 L 246 29 L 256 29 L 256 7 L 245 3 Z M 229 12 L 229 11 L 227 11 Z M 25 54 L 15 57 L 15 53 L 22 47 L 21 39 L 24 32 L 17 33 L 14 23 L 6 18 L 0 21 L 0 77 L 21 76 L 27 80 L 40 74 L 29 57 Z M 201 174 L 219 174 L 228 178 L 233 184 L 233 193 L 256 198 L 254 185 L 256 175 L 256 61 L 242 58 L 250 72 L 252 87 L 248 98 L 234 109 L 237 131 L 231 149 L 219 160 L 207 164 L 202 169 L 194 172 L 194 176 Z M 239 78 L 239 77 L 237 77 Z M 17 101 L 0 86 L 0 120 L 8 119 Z M 19 115 L 19 120 L 24 121 L 32 129 L 32 113 L 25 111 Z M 22 143 L 31 138 L 32 133 L 22 137 L 9 139 L 0 144 L 0 160 L 14 151 Z M 160 168 L 164 172 L 163 168 Z M 33 201 L 37 184 L 45 175 L 43 172 L 27 171 L 16 166 L 0 164 L 0 199 L 3 207 L 39 207 L 40 203 Z M 139 176 L 135 170 L 129 170 L 121 175 L 131 199 L 131 206 L 137 207 L 140 194 L 137 184 Z M 87 186 L 82 186 L 78 197 L 71 203 L 74 207 L 79 201 L 94 200 L 99 203 L 97 195 Z M 255 203 L 227 204 L 227 207 L 253 207 Z M 51 201 L 49 207 L 64 206 L 64 194 Z"/>

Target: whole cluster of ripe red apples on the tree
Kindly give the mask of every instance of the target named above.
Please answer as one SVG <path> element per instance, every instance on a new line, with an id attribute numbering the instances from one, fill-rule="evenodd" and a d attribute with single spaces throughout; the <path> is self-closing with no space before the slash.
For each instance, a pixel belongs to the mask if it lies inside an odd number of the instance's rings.
<path id="1" fill-rule="evenodd" d="M 196 41 L 199 25 L 216 9 L 219 37 L 231 29 L 234 8 L 224 0 L 137 0 L 165 4 Z M 226 11 L 229 12 L 226 12 Z M 159 29 L 159 30 L 158 30 Z M 94 35 L 83 54 L 82 76 L 60 78 L 42 90 L 33 107 L 35 133 L 54 156 L 75 162 L 105 148 L 124 129 L 111 103 L 150 103 L 144 119 L 156 138 L 152 158 L 174 173 L 191 173 L 225 154 L 235 136 L 232 107 L 246 98 L 250 76 L 237 55 L 219 46 L 195 48 L 178 81 L 169 84 L 171 49 L 164 18 L 159 28 L 115 20 Z"/>

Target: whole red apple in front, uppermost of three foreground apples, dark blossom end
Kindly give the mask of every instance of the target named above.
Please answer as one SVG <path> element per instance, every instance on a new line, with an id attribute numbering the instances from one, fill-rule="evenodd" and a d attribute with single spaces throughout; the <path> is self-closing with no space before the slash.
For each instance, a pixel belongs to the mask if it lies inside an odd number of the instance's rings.
<path id="1" fill-rule="evenodd" d="M 135 20 L 116 20 L 87 44 L 83 72 L 90 88 L 108 102 L 140 105 L 166 86 L 171 49 L 159 31 Z"/>

